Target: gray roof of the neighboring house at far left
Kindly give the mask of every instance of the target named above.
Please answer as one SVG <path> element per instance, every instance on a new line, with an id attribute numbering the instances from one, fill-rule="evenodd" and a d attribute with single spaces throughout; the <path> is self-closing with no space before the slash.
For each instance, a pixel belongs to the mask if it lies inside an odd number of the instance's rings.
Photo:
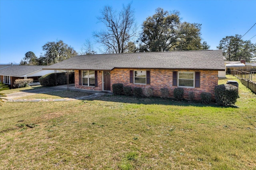
<path id="1" fill-rule="evenodd" d="M 12 65 L 0 69 L 0 75 L 22 77 L 26 74 L 41 70 L 47 66 L 26 66 L 26 65 Z"/>

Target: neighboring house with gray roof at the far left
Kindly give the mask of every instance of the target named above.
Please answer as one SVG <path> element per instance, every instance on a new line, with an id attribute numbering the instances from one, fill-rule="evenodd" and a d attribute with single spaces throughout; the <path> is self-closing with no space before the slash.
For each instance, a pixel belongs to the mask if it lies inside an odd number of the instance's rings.
<path id="1" fill-rule="evenodd" d="M 31 66 L 31 65 L 0 65 L 0 82 L 9 84 L 13 88 L 16 79 L 33 78 L 38 80 L 45 74 L 54 73 L 54 70 L 43 70 L 47 66 Z M 56 70 L 56 72 L 65 72 L 64 70 Z"/>

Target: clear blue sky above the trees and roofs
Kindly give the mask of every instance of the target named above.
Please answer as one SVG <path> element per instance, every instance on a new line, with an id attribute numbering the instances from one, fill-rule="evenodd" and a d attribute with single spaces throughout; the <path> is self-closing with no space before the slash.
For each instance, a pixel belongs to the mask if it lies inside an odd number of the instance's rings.
<path id="1" fill-rule="evenodd" d="M 256 23 L 256 0 L 0 0 L 0 64 L 19 64 L 28 51 L 39 57 L 50 41 L 63 40 L 80 52 L 86 39 L 94 43 L 93 31 L 104 29 L 97 20 L 100 10 L 106 5 L 119 10 L 130 2 L 139 26 L 158 7 L 180 11 L 182 21 L 202 24 L 210 49 Z M 254 35 L 256 25 L 242 39 L 256 43 Z"/>

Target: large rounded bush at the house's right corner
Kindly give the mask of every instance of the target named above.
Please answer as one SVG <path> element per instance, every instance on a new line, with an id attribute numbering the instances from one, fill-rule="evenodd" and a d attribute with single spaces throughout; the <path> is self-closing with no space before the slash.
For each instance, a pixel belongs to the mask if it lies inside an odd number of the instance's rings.
<path id="1" fill-rule="evenodd" d="M 220 106 L 230 106 L 236 103 L 238 88 L 230 84 L 220 84 L 214 88 L 216 103 Z"/>

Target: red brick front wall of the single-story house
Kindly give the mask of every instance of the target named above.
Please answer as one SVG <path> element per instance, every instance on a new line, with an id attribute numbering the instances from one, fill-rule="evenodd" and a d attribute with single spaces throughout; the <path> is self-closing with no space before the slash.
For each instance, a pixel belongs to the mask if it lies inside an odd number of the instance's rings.
<path id="1" fill-rule="evenodd" d="M 154 96 L 161 96 L 161 88 L 169 89 L 169 97 L 173 98 L 173 90 L 177 86 L 172 86 L 172 74 L 173 71 L 199 71 L 200 72 L 200 88 L 183 88 L 184 98 L 188 99 L 188 92 L 192 91 L 195 94 L 195 100 L 201 100 L 200 94 L 202 92 L 208 92 L 212 94 L 212 100 L 214 100 L 214 87 L 218 85 L 218 71 L 210 70 L 164 70 L 164 69 L 142 69 L 150 70 L 150 84 L 133 84 L 130 83 L 130 70 L 116 68 L 110 72 L 111 77 L 111 91 L 112 84 L 122 83 L 124 86 L 153 88 Z M 102 90 L 102 73 L 98 70 L 98 87 L 79 86 L 78 70 L 75 70 L 75 87 L 88 90 Z"/>

